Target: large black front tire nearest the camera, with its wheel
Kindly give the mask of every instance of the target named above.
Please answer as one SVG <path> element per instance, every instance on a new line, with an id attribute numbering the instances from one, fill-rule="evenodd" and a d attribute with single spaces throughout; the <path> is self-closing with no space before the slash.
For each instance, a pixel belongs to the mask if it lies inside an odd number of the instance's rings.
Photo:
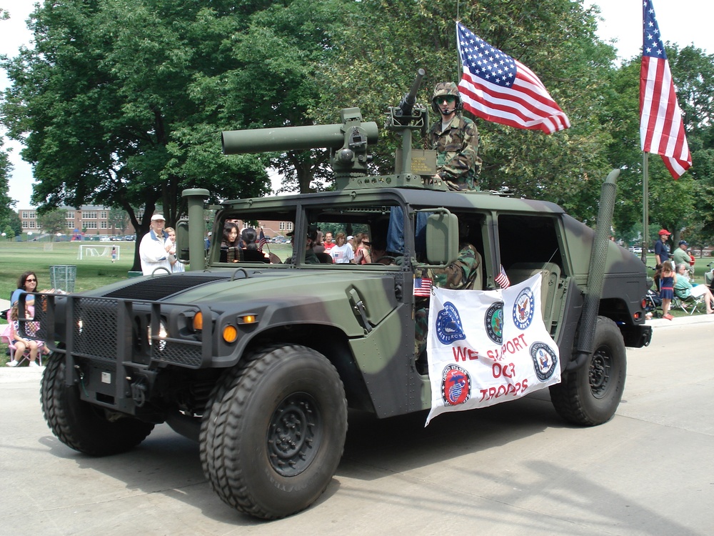
<path id="1" fill-rule="evenodd" d="M 213 490 L 263 519 L 294 514 L 331 482 L 347 433 L 344 387 L 315 350 L 274 346 L 221 379 L 201 425 L 201 464 Z"/>

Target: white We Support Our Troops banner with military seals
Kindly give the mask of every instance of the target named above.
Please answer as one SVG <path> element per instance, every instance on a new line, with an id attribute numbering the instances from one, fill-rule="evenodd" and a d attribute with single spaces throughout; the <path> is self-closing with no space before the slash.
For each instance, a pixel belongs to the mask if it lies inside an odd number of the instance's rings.
<path id="1" fill-rule="evenodd" d="M 443 412 L 507 402 L 560 382 L 558 347 L 540 314 L 541 279 L 496 290 L 434 287 L 426 425 Z"/>

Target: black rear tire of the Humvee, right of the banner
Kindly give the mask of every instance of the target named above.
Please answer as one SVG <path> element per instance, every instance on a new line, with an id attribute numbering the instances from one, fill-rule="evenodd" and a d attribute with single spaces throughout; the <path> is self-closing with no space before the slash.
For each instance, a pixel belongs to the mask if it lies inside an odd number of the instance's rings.
<path id="1" fill-rule="evenodd" d="M 588 362 L 565 374 L 560 384 L 550 387 L 555 411 L 576 425 L 608 422 L 615 415 L 625 390 L 627 354 L 615 322 L 598 317 L 594 347 Z"/>

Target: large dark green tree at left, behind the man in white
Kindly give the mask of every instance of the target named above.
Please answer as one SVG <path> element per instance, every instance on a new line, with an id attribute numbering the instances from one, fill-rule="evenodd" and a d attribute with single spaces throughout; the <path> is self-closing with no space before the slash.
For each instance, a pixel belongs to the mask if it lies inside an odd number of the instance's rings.
<path id="1" fill-rule="evenodd" d="M 194 80 L 227 68 L 216 60 L 244 24 L 236 11 L 228 1 L 39 5 L 34 48 L 2 62 L 13 83 L 3 121 L 34 164 L 33 202 L 123 208 L 143 234 L 157 202 L 176 221 L 183 188 L 210 186 L 216 199 L 266 193 L 261 159 L 222 157 L 228 124 L 206 122 L 191 95 Z M 132 207 L 144 207 L 141 222 Z"/>

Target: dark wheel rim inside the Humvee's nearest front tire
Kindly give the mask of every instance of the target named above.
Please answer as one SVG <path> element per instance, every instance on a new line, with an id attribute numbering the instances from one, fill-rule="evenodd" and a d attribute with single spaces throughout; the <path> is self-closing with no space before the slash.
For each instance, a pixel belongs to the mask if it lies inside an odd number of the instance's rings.
<path id="1" fill-rule="evenodd" d="M 322 439 L 321 415 L 315 399 L 294 393 L 283 399 L 268 426 L 268 457 L 284 477 L 294 477 L 315 459 Z"/>

